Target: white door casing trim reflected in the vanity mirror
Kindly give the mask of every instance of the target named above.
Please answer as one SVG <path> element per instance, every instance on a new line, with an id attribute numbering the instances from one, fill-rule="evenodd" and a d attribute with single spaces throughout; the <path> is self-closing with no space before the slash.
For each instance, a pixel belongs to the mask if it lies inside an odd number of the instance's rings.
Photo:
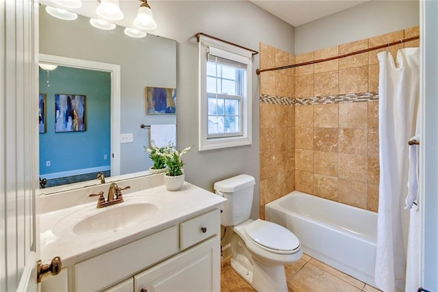
<path id="1" fill-rule="evenodd" d="M 40 54 L 39 62 L 111 73 L 111 176 L 120 174 L 120 65 Z M 37 171 L 38 173 L 38 171 Z"/>

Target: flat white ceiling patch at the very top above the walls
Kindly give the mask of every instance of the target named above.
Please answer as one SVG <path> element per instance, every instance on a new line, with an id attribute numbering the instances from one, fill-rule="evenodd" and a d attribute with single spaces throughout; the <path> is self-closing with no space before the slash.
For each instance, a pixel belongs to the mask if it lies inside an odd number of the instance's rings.
<path id="1" fill-rule="evenodd" d="M 363 0 L 248 0 L 294 27 L 365 3 Z"/>

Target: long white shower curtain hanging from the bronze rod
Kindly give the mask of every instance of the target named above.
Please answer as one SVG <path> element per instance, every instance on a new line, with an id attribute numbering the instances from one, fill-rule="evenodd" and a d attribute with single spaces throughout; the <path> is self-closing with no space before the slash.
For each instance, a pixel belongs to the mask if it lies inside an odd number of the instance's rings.
<path id="1" fill-rule="evenodd" d="M 385 292 L 404 291 L 409 224 L 409 210 L 404 210 L 408 192 L 407 142 L 415 134 L 420 98 L 420 49 L 400 49 L 396 63 L 386 51 L 378 53 L 378 60 L 381 173 L 374 280 Z"/>

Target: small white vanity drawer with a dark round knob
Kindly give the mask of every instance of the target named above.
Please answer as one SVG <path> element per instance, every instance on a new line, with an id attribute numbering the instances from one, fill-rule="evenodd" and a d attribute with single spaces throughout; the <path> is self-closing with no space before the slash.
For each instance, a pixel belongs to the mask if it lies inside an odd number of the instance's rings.
<path id="1" fill-rule="evenodd" d="M 185 250 L 213 235 L 220 234 L 220 211 L 215 209 L 179 224 L 179 246 Z"/>

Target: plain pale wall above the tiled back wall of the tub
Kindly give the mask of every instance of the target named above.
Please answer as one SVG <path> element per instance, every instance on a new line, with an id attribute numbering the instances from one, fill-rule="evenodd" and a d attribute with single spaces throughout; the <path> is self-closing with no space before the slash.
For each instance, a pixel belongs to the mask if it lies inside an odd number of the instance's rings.
<path id="1" fill-rule="evenodd" d="M 295 54 L 363 40 L 419 23 L 419 1 L 369 1 L 296 27 Z"/>

